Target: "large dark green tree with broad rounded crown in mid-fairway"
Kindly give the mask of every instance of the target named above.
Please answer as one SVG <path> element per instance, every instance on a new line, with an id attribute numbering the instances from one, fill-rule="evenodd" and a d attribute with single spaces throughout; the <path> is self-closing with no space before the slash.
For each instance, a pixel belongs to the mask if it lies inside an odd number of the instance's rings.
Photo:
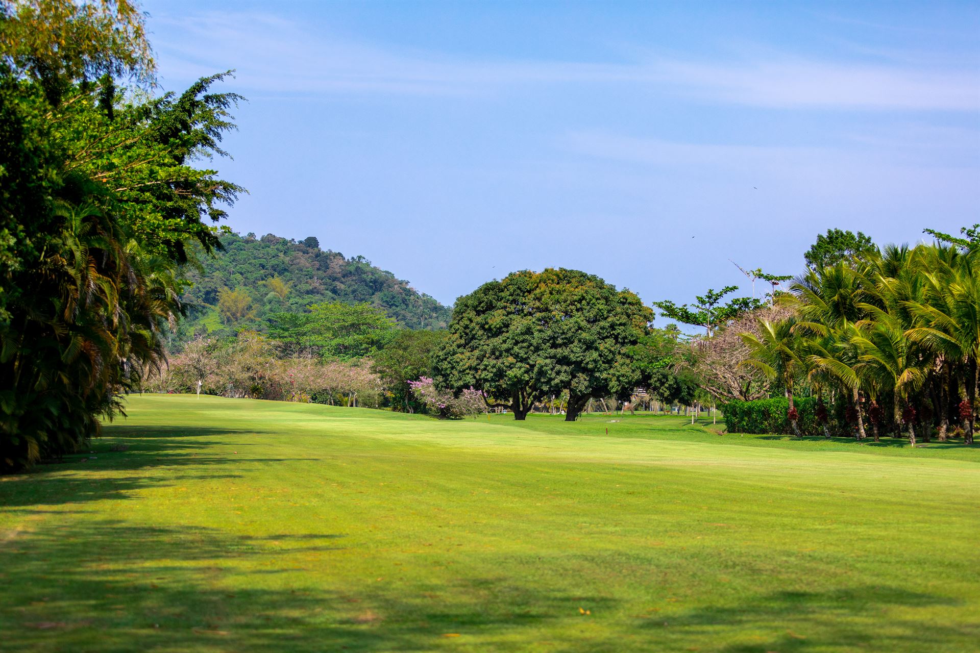
<path id="1" fill-rule="evenodd" d="M 565 419 L 574 420 L 592 397 L 629 396 L 639 375 L 628 350 L 652 319 L 636 295 L 595 275 L 515 272 L 457 301 L 435 354 L 436 380 L 457 393 L 481 391 L 517 420 L 567 391 Z"/>

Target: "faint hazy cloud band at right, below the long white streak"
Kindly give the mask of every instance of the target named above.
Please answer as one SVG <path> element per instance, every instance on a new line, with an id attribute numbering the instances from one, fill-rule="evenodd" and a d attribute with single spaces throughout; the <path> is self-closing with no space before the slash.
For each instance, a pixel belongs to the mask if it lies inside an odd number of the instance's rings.
<path id="1" fill-rule="evenodd" d="M 638 187 L 656 186 L 660 193 L 672 193 L 671 184 L 721 194 L 733 188 L 753 193 L 758 187 L 765 197 L 775 193 L 805 203 L 822 201 L 817 198 L 883 201 L 908 194 L 935 198 L 956 188 L 975 187 L 978 169 L 975 156 L 951 157 L 949 145 L 906 142 L 887 130 L 872 141 L 853 139 L 819 147 L 702 144 L 573 131 L 561 137 L 558 146 L 577 158 L 625 164 L 628 167 L 614 174 L 633 179 Z M 646 181 L 638 182 L 637 176 Z M 664 180 L 669 180 L 666 185 Z"/>

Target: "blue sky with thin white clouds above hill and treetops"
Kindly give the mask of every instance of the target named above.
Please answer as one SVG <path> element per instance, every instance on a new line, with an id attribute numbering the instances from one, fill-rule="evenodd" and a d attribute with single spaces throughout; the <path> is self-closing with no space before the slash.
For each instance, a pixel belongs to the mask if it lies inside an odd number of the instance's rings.
<path id="1" fill-rule="evenodd" d="M 165 89 L 235 69 L 242 233 L 453 303 L 573 267 L 647 303 L 816 234 L 980 221 L 980 4 L 147 2 Z"/>

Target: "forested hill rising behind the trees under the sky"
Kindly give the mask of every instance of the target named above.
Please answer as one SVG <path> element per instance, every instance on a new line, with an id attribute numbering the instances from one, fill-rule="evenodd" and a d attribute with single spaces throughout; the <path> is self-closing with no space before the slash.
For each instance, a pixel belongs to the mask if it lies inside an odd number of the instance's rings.
<path id="1" fill-rule="evenodd" d="M 452 309 L 421 295 L 365 257 L 345 258 L 319 249 L 316 238 L 297 242 L 268 234 L 221 236 L 224 251 L 202 256 L 203 271 L 191 271 L 190 304 L 179 340 L 194 334 L 258 329 L 265 331 L 276 312 L 303 312 L 311 303 L 367 302 L 384 308 L 402 326 L 445 327 Z"/>

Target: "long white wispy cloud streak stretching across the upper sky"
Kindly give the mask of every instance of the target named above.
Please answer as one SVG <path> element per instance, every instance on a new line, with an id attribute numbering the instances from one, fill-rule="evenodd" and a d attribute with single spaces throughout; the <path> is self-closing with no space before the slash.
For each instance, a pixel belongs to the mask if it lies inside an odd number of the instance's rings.
<path id="1" fill-rule="evenodd" d="M 399 51 L 256 13 L 154 20 L 183 34 L 159 44 L 172 74 L 235 68 L 239 85 L 271 93 L 466 96 L 624 84 L 703 103 L 770 108 L 980 109 L 980 75 L 958 64 L 862 64 L 788 53 L 724 62 L 656 55 L 615 63 L 478 60 Z"/>

